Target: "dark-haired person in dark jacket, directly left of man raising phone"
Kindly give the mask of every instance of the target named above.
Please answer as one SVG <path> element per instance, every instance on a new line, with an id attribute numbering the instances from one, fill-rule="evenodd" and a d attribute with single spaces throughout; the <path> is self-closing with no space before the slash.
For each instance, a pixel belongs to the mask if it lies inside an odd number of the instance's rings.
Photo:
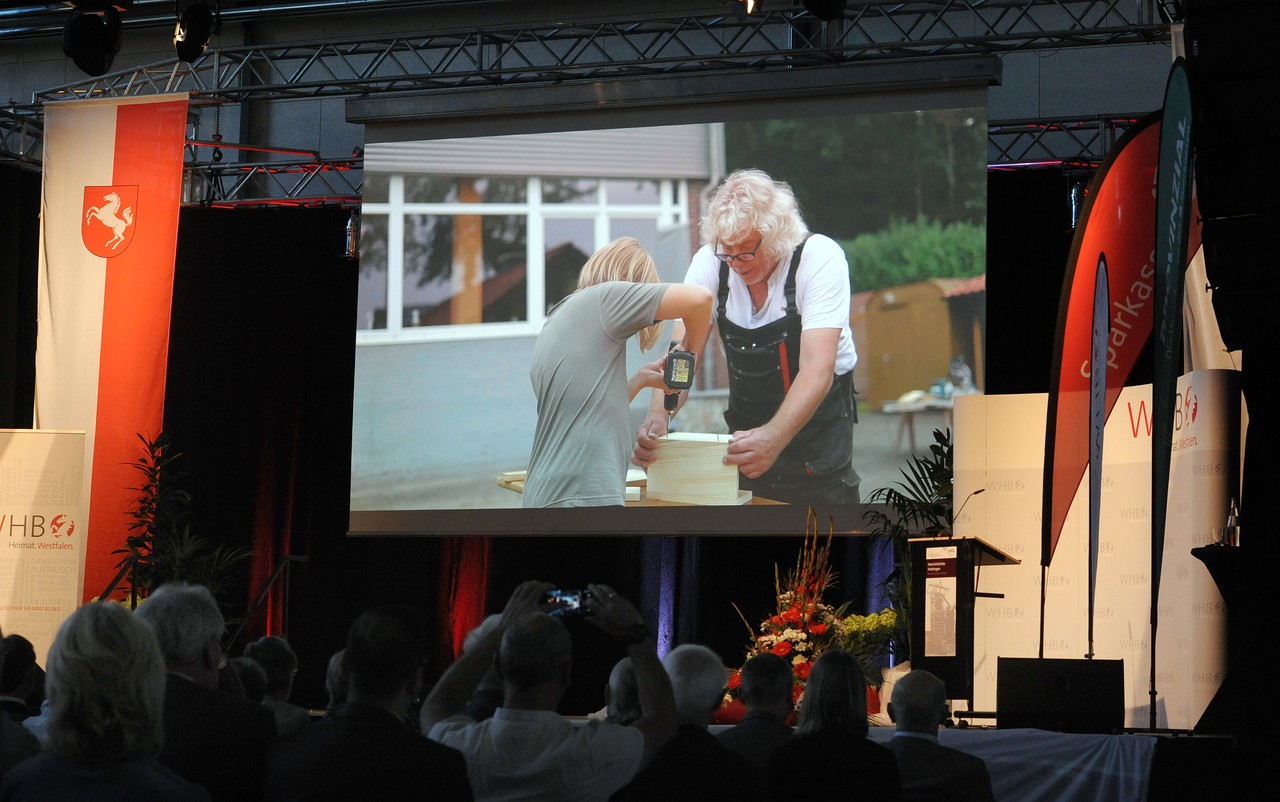
<path id="1" fill-rule="evenodd" d="M 426 739 L 408 720 L 422 692 L 421 617 L 403 606 L 366 610 L 342 654 L 347 701 L 298 737 L 276 742 L 268 798 L 470 801 L 462 753 Z"/>

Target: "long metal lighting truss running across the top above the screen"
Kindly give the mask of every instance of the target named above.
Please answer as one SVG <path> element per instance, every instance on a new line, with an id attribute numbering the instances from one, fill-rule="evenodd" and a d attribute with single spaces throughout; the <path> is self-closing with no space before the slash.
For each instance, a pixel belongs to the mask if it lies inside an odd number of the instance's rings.
<path id="1" fill-rule="evenodd" d="M 191 64 L 160 61 L 44 90 L 32 102 L 164 92 L 209 102 L 351 97 L 1169 41 L 1157 5 L 872 1 L 850 4 L 831 23 L 788 9 L 223 47 Z"/>

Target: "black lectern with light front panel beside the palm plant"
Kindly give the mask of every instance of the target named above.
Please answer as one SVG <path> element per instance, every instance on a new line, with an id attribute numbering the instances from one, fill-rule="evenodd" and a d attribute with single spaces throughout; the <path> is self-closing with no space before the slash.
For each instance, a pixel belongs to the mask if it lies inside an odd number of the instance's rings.
<path id="1" fill-rule="evenodd" d="M 973 615 L 975 599 L 1004 599 L 978 590 L 986 565 L 1018 565 L 1015 556 L 978 537 L 913 537 L 911 668 L 947 686 L 947 698 L 973 712 Z"/>

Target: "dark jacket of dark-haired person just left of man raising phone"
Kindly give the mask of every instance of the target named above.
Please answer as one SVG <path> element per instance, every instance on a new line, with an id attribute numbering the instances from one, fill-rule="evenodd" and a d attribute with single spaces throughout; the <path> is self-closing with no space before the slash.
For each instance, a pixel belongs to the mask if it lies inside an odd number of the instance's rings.
<path id="1" fill-rule="evenodd" d="M 381 707 L 348 702 L 303 734 L 275 743 L 266 798 L 471 802 L 472 797 L 462 752 L 428 741 Z"/>

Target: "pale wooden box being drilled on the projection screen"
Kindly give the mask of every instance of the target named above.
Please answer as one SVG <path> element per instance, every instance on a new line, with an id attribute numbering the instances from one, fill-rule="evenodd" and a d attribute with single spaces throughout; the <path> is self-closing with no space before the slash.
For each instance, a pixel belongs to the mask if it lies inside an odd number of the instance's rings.
<path id="1" fill-rule="evenodd" d="M 658 439 L 658 458 L 649 464 L 645 498 L 684 504 L 746 504 L 750 491 L 737 489 L 737 466 L 726 466 L 728 435 L 672 432 Z"/>

